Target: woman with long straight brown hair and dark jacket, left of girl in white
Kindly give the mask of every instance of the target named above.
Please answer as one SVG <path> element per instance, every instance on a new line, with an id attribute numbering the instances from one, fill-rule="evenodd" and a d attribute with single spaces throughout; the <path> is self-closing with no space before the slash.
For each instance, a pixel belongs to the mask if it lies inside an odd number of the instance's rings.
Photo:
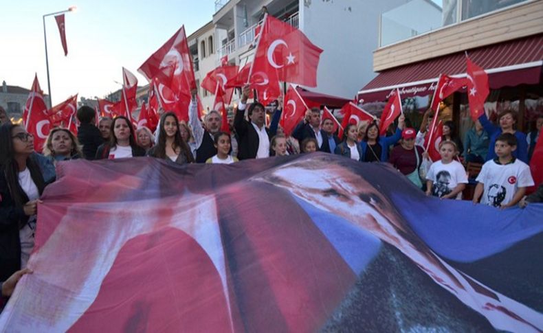
<path id="1" fill-rule="evenodd" d="M 166 112 L 160 117 L 158 143 L 147 154 L 157 159 L 169 159 L 177 164 L 195 161 L 188 144 L 181 137 L 179 119 L 173 112 Z"/>

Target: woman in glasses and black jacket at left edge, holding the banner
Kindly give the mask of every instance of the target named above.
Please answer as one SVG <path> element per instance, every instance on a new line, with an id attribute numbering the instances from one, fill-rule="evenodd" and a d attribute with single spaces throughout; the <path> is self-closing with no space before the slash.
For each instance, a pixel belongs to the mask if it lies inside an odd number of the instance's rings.
<path id="1" fill-rule="evenodd" d="M 38 198 L 45 188 L 30 158 L 34 137 L 22 126 L 0 126 L 0 281 L 25 268 L 34 248 Z"/>

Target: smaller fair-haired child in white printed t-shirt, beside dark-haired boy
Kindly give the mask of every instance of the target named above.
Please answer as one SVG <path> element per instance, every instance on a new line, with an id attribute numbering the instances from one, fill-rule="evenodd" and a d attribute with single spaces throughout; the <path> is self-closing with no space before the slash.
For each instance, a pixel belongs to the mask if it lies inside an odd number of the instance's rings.
<path id="1" fill-rule="evenodd" d="M 467 174 L 463 165 L 454 160 L 458 154 L 458 148 L 454 141 L 442 141 L 439 144 L 441 161 L 436 161 L 430 166 L 426 174 L 426 195 L 432 194 L 442 199 L 462 199 L 462 191 L 467 184 Z"/>

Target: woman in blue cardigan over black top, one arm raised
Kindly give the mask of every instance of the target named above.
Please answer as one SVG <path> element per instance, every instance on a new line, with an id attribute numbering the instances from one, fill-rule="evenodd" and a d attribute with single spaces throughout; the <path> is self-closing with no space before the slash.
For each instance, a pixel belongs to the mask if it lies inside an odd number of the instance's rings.
<path id="1" fill-rule="evenodd" d="M 400 115 L 398 118 L 398 128 L 394 135 L 387 137 L 386 135 L 379 136 L 379 125 L 377 122 L 372 122 L 366 128 L 366 135 L 360 141 L 362 147 L 363 162 L 386 162 L 388 161 L 388 151 L 390 146 L 394 145 L 401 139 L 401 130 L 405 127 L 406 116 Z"/>

